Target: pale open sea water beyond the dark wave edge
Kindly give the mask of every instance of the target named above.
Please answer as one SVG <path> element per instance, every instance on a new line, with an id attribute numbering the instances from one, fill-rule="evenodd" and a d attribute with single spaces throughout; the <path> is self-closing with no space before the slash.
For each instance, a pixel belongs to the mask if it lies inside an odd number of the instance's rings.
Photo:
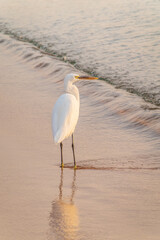
<path id="1" fill-rule="evenodd" d="M 160 105 L 158 0 L 2 0 L 0 32 Z"/>

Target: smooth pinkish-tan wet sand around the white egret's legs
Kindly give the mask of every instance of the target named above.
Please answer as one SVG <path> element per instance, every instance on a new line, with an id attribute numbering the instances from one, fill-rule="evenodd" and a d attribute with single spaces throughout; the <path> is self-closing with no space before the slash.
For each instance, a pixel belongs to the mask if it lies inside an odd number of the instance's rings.
<path id="1" fill-rule="evenodd" d="M 0 239 L 159 240 L 159 155 L 150 140 L 116 118 L 98 122 L 100 108 L 80 90 L 79 169 L 68 139 L 61 171 L 51 111 L 71 69 L 52 82 L 26 59 L 0 46 Z"/>

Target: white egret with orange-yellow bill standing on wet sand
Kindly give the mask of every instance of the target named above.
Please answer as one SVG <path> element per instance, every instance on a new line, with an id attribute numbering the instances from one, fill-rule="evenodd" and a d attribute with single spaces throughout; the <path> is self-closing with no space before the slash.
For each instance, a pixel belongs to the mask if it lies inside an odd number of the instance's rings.
<path id="1" fill-rule="evenodd" d="M 62 141 L 72 135 L 72 151 L 74 159 L 74 168 L 76 168 L 76 159 L 74 151 L 73 132 L 75 130 L 79 117 L 79 91 L 73 83 L 78 80 L 94 80 L 95 77 L 79 76 L 78 74 L 68 74 L 64 78 L 65 93 L 56 101 L 52 113 L 52 130 L 55 143 L 60 143 L 61 149 L 61 167 L 63 164 L 63 144 Z"/>

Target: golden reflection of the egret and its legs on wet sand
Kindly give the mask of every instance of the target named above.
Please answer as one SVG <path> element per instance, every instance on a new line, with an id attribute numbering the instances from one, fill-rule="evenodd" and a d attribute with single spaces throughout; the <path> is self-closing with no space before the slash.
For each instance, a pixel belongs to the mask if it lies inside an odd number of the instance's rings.
<path id="1" fill-rule="evenodd" d="M 70 198 L 63 197 L 63 169 L 59 185 L 59 199 L 53 201 L 50 213 L 49 240 L 78 240 L 78 210 L 73 199 L 76 191 L 76 171 L 74 171 Z"/>

